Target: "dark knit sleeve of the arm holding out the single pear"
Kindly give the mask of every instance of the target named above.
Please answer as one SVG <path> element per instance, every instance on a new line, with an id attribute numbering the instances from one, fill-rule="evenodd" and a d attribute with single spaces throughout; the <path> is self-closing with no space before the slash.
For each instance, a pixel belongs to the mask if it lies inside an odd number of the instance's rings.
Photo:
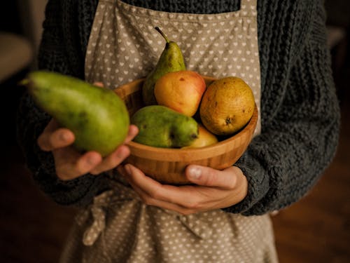
<path id="1" fill-rule="evenodd" d="M 68 55 L 73 54 L 74 49 L 76 53 L 81 52 L 77 41 L 71 41 L 73 43 L 71 45 L 62 43 L 67 40 L 62 28 L 64 23 L 62 23 L 61 1 L 48 1 L 45 17 L 38 67 L 82 77 L 77 73 L 83 72 L 82 66 L 77 67 L 78 59 L 73 60 Z M 66 50 L 66 46 L 69 46 L 71 50 Z M 80 64 L 83 65 L 83 63 Z M 50 116 L 38 109 L 31 97 L 25 93 L 18 110 L 18 142 L 22 147 L 27 167 L 38 186 L 55 202 L 62 205 L 86 205 L 92 201 L 97 192 L 106 189 L 106 177 L 87 174 L 75 180 L 59 180 L 55 174 L 52 154 L 41 151 L 36 144 L 38 135 L 42 133 L 48 121 L 50 121 Z"/>

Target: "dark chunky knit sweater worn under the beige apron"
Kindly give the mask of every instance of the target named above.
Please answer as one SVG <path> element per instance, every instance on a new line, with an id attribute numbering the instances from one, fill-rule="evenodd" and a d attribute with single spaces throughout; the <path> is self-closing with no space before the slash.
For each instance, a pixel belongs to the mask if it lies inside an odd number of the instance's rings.
<path id="1" fill-rule="evenodd" d="M 237 11 L 239 0 L 124 0 L 158 11 Z M 261 134 L 235 163 L 248 180 L 248 195 L 229 213 L 261 215 L 302 198 L 328 167 L 337 148 L 339 107 L 325 39 L 320 0 L 258 0 Z M 43 24 L 39 67 L 84 78 L 84 59 L 98 0 L 50 0 Z M 63 182 L 50 152 L 36 138 L 50 116 L 25 95 L 18 139 L 38 185 L 62 205 L 87 205 L 109 188 L 106 175 Z"/>

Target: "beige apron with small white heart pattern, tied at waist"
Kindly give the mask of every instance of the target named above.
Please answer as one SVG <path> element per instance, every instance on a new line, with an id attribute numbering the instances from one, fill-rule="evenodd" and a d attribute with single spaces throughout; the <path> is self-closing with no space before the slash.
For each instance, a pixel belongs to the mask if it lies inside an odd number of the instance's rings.
<path id="1" fill-rule="evenodd" d="M 165 40 L 183 51 L 188 69 L 207 76 L 240 76 L 260 107 L 256 1 L 214 15 L 167 13 L 120 0 L 100 0 L 85 58 L 85 77 L 108 88 L 153 69 Z M 260 132 L 260 118 L 255 134 Z M 142 203 L 120 176 L 96 196 L 76 224 L 61 262 L 277 262 L 269 215 L 244 217 L 211 210 L 179 215 Z"/>

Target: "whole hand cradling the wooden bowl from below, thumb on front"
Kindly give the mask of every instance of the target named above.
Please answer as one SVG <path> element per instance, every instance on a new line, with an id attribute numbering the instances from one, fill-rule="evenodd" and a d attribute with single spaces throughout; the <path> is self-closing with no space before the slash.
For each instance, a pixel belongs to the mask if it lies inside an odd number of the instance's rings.
<path id="1" fill-rule="evenodd" d="M 148 205 L 174 210 L 183 215 L 226 208 L 244 199 L 248 182 L 241 169 L 232 166 L 214 170 L 190 165 L 185 175 L 195 185 L 160 184 L 131 164 L 118 167 L 134 191 Z"/>

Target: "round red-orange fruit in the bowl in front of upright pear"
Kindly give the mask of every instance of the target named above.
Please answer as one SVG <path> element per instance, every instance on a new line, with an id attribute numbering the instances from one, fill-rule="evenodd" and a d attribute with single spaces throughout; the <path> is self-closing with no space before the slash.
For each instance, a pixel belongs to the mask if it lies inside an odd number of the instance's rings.
<path id="1" fill-rule="evenodd" d="M 187 116 L 197 112 L 206 89 L 203 77 L 197 72 L 181 70 L 164 74 L 155 83 L 157 103 Z"/>

